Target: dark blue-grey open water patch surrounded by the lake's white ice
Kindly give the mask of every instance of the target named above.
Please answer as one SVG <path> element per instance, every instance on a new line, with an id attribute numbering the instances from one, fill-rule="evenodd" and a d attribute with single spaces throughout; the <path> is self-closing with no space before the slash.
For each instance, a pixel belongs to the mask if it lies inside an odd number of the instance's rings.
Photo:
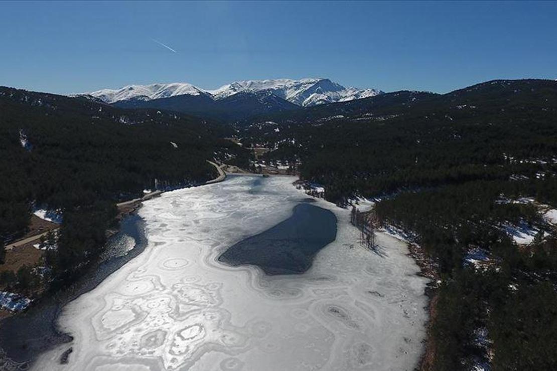
<path id="1" fill-rule="evenodd" d="M 268 275 L 300 274 L 335 238 L 335 214 L 304 203 L 296 205 L 288 219 L 231 246 L 218 260 L 232 266 L 257 265 Z"/>

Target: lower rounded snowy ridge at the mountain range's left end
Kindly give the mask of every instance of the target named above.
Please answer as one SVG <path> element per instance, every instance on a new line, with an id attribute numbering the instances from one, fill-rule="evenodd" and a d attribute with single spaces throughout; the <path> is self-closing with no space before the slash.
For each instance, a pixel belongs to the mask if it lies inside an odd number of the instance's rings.
<path id="1" fill-rule="evenodd" d="M 154 100 L 177 95 L 202 95 L 207 92 L 188 83 L 155 83 L 150 85 L 128 85 L 120 89 L 102 89 L 86 95 L 99 98 L 105 103 L 114 103 L 130 99 Z"/>

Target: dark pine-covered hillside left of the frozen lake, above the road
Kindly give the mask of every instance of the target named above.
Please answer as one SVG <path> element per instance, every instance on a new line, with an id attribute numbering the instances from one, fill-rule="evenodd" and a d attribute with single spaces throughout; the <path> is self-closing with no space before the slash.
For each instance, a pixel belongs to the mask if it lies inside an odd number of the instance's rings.
<path id="1" fill-rule="evenodd" d="M 0 88 L 0 236 L 25 231 L 32 202 L 71 210 L 215 176 L 228 127 L 158 110 Z"/>

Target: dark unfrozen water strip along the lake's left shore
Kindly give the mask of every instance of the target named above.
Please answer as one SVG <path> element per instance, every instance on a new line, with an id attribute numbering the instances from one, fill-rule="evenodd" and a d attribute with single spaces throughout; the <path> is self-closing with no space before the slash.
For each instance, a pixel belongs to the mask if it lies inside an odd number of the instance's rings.
<path id="1" fill-rule="evenodd" d="M 123 250 L 123 240 L 130 236 L 135 240 L 134 248 Z M 55 296 L 44 298 L 26 313 L 8 317 L 0 323 L 0 370 L 27 369 L 37 355 L 58 344 L 69 343 L 70 334 L 61 332 L 56 321 L 64 305 L 76 299 L 118 270 L 145 249 L 144 222 L 141 217 L 131 214 L 120 223 L 120 230 L 106 245 L 105 260 L 93 264 L 89 270 L 70 288 Z M 71 348 L 63 352 L 61 362 L 71 353 Z"/>

